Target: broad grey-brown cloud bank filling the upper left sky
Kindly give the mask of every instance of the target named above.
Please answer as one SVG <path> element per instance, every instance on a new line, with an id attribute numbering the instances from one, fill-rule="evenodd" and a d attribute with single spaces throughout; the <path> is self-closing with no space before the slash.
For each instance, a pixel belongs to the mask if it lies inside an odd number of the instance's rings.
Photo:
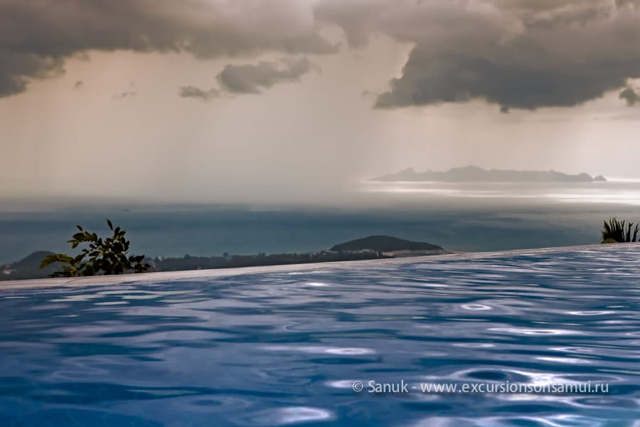
<path id="1" fill-rule="evenodd" d="M 63 72 L 89 50 L 331 53 L 310 6 L 294 0 L 0 0 L 0 96 Z"/>

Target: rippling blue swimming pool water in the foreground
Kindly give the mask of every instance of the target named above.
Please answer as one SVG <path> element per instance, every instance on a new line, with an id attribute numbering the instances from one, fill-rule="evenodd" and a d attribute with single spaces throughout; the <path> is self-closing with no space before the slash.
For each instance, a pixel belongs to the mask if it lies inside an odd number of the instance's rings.
<path id="1" fill-rule="evenodd" d="M 0 426 L 638 426 L 639 303 L 640 246 L 4 289 Z"/>

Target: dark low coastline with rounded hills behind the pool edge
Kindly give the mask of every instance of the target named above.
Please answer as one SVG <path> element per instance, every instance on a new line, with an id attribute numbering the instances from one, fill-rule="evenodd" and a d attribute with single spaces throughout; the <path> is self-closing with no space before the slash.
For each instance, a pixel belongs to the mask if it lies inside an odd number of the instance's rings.
<path id="1" fill-rule="evenodd" d="M 302 263 L 326 263 L 332 261 L 373 260 L 406 256 L 441 255 L 451 253 L 442 247 L 427 242 L 407 241 L 391 236 L 368 236 L 353 241 L 338 243 L 329 251 L 309 253 L 274 253 L 267 255 L 191 256 L 182 258 L 146 258 L 149 271 L 208 270 L 215 268 L 253 267 L 256 265 L 284 265 Z M 26 280 L 46 278 L 58 268 L 49 265 L 41 270 L 40 262 L 52 252 L 37 251 L 26 258 L 0 265 L 0 280 Z"/>

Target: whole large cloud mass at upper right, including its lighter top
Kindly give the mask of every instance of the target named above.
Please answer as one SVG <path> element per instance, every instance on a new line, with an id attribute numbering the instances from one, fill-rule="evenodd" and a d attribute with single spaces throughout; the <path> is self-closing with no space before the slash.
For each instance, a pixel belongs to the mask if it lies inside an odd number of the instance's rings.
<path id="1" fill-rule="evenodd" d="M 562 7 L 540 9 L 543 4 L 518 9 L 513 1 L 511 11 L 478 4 L 447 13 L 446 6 L 429 14 L 414 11 L 415 19 L 439 14 L 455 30 L 433 22 L 421 32 L 407 19 L 385 23 L 388 33 L 415 47 L 375 107 L 471 99 L 496 103 L 503 111 L 571 107 L 640 76 L 639 11 L 612 4 L 607 9 L 601 1 L 560 1 Z"/>

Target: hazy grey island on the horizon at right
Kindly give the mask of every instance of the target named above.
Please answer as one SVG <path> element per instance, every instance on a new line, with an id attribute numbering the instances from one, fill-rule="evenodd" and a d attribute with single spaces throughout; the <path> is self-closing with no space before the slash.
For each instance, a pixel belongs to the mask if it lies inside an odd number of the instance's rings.
<path id="1" fill-rule="evenodd" d="M 482 169 L 476 166 L 456 167 L 447 172 L 415 172 L 410 167 L 396 174 L 386 174 L 373 181 L 438 181 L 438 182 L 594 182 L 607 181 L 602 175 L 595 178 L 590 174 L 563 174 L 550 171 L 515 171 L 508 169 Z"/>

